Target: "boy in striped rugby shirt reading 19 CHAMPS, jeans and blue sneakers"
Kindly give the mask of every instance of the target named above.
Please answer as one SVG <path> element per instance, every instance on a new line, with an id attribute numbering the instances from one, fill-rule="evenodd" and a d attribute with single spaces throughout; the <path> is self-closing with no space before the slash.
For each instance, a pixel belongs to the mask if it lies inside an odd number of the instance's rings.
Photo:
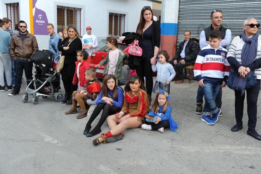
<path id="1" fill-rule="evenodd" d="M 216 123 L 221 113 L 221 109 L 216 105 L 215 98 L 219 88 L 227 85 L 229 75 L 230 65 L 227 61 L 227 50 L 221 47 L 221 41 L 221 32 L 212 30 L 209 34 L 210 44 L 199 51 L 194 66 L 194 75 L 199 86 L 203 88 L 205 96 L 201 120 L 208 125 Z"/>

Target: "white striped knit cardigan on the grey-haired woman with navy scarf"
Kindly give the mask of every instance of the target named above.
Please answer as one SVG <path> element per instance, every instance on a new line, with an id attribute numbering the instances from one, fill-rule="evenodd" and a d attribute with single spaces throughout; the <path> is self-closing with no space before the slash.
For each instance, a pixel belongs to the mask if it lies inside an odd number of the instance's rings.
<path id="1" fill-rule="evenodd" d="M 257 39 L 257 56 L 256 59 L 261 58 L 261 36 L 258 36 Z M 236 36 L 230 45 L 230 48 L 228 50 L 227 57 L 234 57 L 240 64 L 242 62 L 241 60 L 241 53 L 242 53 L 242 48 L 245 44 L 245 41 L 243 41 L 239 36 Z M 257 76 L 257 79 L 261 79 L 261 68 L 255 69 L 255 75 Z"/>

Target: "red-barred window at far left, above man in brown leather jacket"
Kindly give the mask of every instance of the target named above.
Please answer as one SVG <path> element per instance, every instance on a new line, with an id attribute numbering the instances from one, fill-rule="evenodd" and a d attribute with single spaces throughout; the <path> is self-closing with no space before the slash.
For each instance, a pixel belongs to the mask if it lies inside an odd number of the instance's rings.
<path id="1" fill-rule="evenodd" d="M 15 30 L 15 24 L 19 24 L 19 3 L 6 4 L 6 17 L 10 19 L 11 28 Z"/>

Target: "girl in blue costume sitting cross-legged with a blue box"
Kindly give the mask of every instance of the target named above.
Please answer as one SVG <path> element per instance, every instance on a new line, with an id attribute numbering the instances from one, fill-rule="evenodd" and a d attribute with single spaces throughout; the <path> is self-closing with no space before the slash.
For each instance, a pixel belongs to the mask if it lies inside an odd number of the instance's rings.
<path id="1" fill-rule="evenodd" d="M 146 124 L 141 125 L 145 130 L 158 130 L 163 133 L 164 128 L 170 128 L 174 132 L 178 128 L 177 123 L 171 118 L 171 107 L 169 105 L 170 96 L 167 91 L 159 90 L 155 102 L 148 115 L 157 117 L 155 123 L 145 120 Z"/>

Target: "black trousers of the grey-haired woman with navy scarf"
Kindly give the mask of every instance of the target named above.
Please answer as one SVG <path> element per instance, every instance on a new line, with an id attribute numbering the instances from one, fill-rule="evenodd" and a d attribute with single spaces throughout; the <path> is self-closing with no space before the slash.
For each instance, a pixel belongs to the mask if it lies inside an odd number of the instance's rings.
<path id="1" fill-rule="evenodd" d="M 257 84 L 251 89 L 246 90 L 247 100 L 247 115 L 248 115 L 248 130 L 255 130 L 257 123 L 257 99 L 260 88 L 260 80 L 257 79 Z M 235 117 L 237 124 L 243 124 L 243 109 L 244 109 L 245 94 L 241 96 L 241 91 L 235 91 Z"/>

